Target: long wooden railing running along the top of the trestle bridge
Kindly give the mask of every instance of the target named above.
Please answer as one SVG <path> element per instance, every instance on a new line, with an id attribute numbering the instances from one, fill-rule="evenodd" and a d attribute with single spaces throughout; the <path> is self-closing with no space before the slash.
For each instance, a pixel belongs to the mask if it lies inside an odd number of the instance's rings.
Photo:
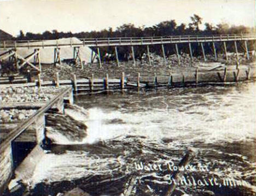
<path id="1" fill-rule="evenodd" d="M 149 45 L 184 42 L 210 42 L 232 40 L 255 40 L 256 34 L 223 34 L 223 35 L 180 35 L 153 37 L 120 37 L 120 38 L 84 38 L 80 41 L 60 43 L 58 40 L 18 40 L 0 41 L 0 49 L 8 48 L 44 48 L 44 47 L 76 47 L 76 46 L 120 46 Z"/>

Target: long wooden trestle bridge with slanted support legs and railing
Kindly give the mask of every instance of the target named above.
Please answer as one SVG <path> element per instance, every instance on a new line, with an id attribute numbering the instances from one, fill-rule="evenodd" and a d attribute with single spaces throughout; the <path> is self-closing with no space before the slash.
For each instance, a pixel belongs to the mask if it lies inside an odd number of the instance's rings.
<path id="1" fill-rule="evenodd" d="M 21 40 L 21 41 L 0 41 L 0 50 L 5 50 L 4 53 L 0 54 L 0 60 L 4 60 L 7 58 L 13 59 L 14 66 L 16 69 L 19 70 L 25 64 L 31 66 L 33 69 L 36 69 L 38 72 L 41 71 L 40 65 L 40 49 L 42 48 L 54 48 L 54 64 L 61 64 L 61 54 L 60 49 L 62 47 L 73 47 L 74 48 L 74 60 L 75 62 L 80 62 L 81 68 L 83 69 L 83 63 L 80 59 L 79 54 L 79 47 L 94 47 L 96 48 L 97 59 L 100 67 L 102 67 L 102 59 L 100 54 L 100 47 L 104 46 L 112 46 L 115 48 L 115 58 L 117 60 L 117 66 L 119 66 L 119 59 L 118 59 L 118 50 L 119 46 L 130 46 L 131 47 L 131 54 L 133 59 L 133 65 L 136 65 L 135 59 L 135 51 L 133 46 L 147 46 L 147 56 L 150 62 L 150 45 L 161 45 L 162 56 L 164 57 L 165 65 L 167 66 L 167 59 L 166 59 L 166 52 L 165 52 L 165 45 L 166 44 L 174 44 L 176 54 L 178 57 L 178 64 L 181 64 L 180 61 L 180 54 L 179 54 L 179 47 L 178 44 L 188 44 L 189 53 L 191 60 L 193 59 L 193 51 L 191 44 L 199 43 L 201 45 L 203 59 L 206 61 L 205 55 L 205 48 L 203 44 L 206 42 L 212 43 L 213 48 L 213 55 L 215 60 L 217 60 L 217 52 L 216 52 L 216 43 L 222 42 L 224 46 L 224 52 L 226 60 L 228 60 L 226 42 L 234 42 L 236 56 L 237 56 L 237 63 L 238 63 L 238 48 L 237 48 L 237 41 L 242 41 L 245 43 L 245 53 L 247 59 L 249 59 L 249 51 L 247 42 L 248 41 L 255 41 L 256 35 L 255 34 L 226 34 L 226 35 L 181 35 L 181 36 L 160 36 L 160 37 L 121 37 L 121 38 L 84 38 L 80 39 L 80 42 L 72 42 L 70 39 L 69 43 L 59 43 L 58 40 L 51 40 L 51 42 L 46 42 L 47 40 Z M 34 52 L 28 55 L 27 57 L 21 57 L 18 53 L 16 53 L 17 48 L 33 48 Z M 255 48 L 254 48 L 255 50 Z M 31 63 L 30 60 L 34 58 L 34 63 Z M 95 58 L 95 57 L 94 57 Z M 92 60 L 93 61 L 93 60 Z M 38 66 L 37 66 L 38 65 Z"/>

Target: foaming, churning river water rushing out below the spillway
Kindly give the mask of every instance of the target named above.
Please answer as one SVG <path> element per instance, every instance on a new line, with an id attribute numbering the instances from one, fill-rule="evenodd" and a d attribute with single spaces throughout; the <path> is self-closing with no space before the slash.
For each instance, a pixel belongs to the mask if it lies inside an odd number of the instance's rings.
<path id="1" fill-rule="evenodd" d="M 255 195 L 255 92 L 256 83 L 246 82 L 79 95 L 75 103 L 88 116 L 73 115 L 88 126 L 88 136 L 54 145 L 30 184 L 51 183 L 54 188 L 44 187 L 51 195 L 67 187 L 120 195 L 133 174 L 135 195 L 163 195 L 173 164 L 192 147 L 197 154 L 178 189 L 188 195 Z M 63 144 L 61 138 L 55 142 Z"/>

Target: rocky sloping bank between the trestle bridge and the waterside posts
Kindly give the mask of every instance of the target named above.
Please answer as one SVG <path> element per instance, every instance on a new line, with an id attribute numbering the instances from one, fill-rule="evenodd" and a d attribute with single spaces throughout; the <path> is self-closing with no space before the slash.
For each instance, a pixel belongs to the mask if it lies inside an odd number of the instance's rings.
<path id="1" fill-rule="evenodd" d="M 59 73 L 60 79 L 71 79 L 73 74 L 77 76 L 77 78 L 90 78 L 92 74 L 94 74 L 94 78 L 104 78 L 106 74 L 108 74 L 109 78 L 120 78 L 122 72 L 125 73 L 125 76 L 136 76 L 137 73 L 140 73 L 141 76 L 154 76 L 154 74 L 169 74 L 170 72 L 173 74 L 176 73 L 186 73 L 195 71 L 196 68 L 204 70 L 207 64 L 213 65 L 226 65 L 226 66 L 234 66 L 236 65 L 236 54 L 230 53 L 228 57 L 228 61 L 224 59 L 223 56 L 218 57 L 218 61 L 214 60 L 214 57 L 211 55 L 206 55 L 207 62 L 203 60 L 203 57 L 189 57 L 189 54 L 182 53 L 178 60 L 176 54 L 172 54 L 166 58 L 167 66 L 165 65 L 164 58 L 158 56 L 156 54 L 150 54 L 151 65 L 149 65 L 147 56 L 144 56 L 142 60 L 136 59 L 136 65 L 133 65 L 133 61 L 130 59 L 127 62 L 119 62 L 119 66 L 117 66 L 117 62 L 115 61 L 103 61 L 102 68 L 98 63 L 94 64 L 86 64 L 84 65 L 84 69 L 81 69 L 80 65 L 75 65 L 73 63 L 65 63 L 62 65 L 48 64 L 42 66 L 42 74 L 41 78 L 44 81 L 53 80 L 55 78 L 55 73 Z M 246 65 L 248 63 L 252 63 L 254 61 L 253 58 L 247 60 L 245 54 L 239 54 L 239 64 Z M 180 61 L 180 64 L 179 64 Z"/>

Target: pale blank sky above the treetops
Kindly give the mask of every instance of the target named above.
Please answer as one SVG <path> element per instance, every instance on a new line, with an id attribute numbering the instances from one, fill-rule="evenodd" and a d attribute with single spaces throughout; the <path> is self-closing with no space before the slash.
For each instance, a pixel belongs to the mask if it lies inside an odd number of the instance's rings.
<path id="1" fill-rule="evenodd" d="M 161 21 L 190 22 L 197 14 L 203 23 L 255 27 L 256 0 L 0 0 L 0 29 L 14 36 L 20 30 L 73 33 L 108 29 L 124 23 L 136 27 Z M 203 28 L 203 27 L 202 27 Z"/>

